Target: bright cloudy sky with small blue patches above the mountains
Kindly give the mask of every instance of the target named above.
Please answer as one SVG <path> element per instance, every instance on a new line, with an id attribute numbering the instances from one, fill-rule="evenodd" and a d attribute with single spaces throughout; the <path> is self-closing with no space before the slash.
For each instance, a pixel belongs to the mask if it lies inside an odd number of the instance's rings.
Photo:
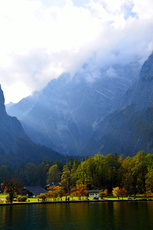
<path id="1" fill-rule="evenodd" d="M 0 0 L 0 31 L 0 84 L 15 103 L 87 60 L 145 61 L 153 0 Z"/>

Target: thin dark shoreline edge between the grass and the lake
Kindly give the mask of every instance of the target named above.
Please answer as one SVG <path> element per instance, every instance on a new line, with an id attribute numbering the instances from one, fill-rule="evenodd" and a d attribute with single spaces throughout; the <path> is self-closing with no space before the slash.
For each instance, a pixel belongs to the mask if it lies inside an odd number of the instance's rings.
<path id="1" fill-rule="evenodd" d="M 103 203 L 103 202 L 140 202 L 140 201 L 153 201 L 153 200 L 122 200 L 122 199 L 112 199 L 112 200 L 64 200 L 64 201 L 39 201 L 39 202 L 18 202 L 18 203 L 2 203 L 0 206 L 12 206 L 12 205 L 32 205 L 32 204 L 56 204 L 56 203 Z"/>

